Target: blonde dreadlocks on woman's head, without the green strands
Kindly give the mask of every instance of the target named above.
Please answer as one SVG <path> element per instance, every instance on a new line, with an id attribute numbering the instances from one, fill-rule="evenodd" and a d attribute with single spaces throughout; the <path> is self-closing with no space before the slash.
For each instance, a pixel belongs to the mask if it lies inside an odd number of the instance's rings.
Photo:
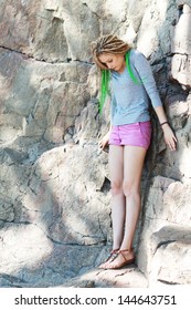
<path id="1" fill-rule="evenodd" d="M 99 60 L 100 54 L 107 53 L 125 55 L 130 50 L 130 46 L 126 42 L 113 34 L 102 35 L 96 41 L 91 43 L 91 48 L 93 59 L 102 70 L 108 70 L 108 68 Z"/>

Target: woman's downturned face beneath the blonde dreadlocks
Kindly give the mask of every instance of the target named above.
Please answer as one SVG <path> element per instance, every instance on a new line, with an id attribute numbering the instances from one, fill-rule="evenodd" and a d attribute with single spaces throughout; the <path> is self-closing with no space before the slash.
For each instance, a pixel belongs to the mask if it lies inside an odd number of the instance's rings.
<path id="1" fill-rule="evenodd" d="M 125 56 L 120 54 L 103 53 L 99 55 L 99 60 L 107 65 L 109 70 L 115 70 L 119 73 L 121 73 L 126 66 Z"/>

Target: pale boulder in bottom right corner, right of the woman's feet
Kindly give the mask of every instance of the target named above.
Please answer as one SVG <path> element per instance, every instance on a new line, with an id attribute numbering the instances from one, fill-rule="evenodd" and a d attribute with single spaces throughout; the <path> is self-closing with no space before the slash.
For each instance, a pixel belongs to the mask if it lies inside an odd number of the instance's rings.
<path id="1" fill-rule="evenodd" d="M 155 285 L 156 279 L 172 285 L 190 283 L 190 236 L 191 229 L 184 229 L 182 226 L 165 226 L 152 235 L 153 256 L 150 264 L 150 286 Z M 169 261 L 171 262 L 170 269 Z"/>

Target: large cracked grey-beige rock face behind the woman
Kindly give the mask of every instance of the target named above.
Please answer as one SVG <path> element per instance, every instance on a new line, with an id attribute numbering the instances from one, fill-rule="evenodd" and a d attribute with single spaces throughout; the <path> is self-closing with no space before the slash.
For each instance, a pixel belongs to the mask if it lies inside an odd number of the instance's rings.
<path id="1" fill-rule="evenodd" d="M 97 145 L 109 107 L 98 115 L 89 50 L 109 32 L 149 59 L 178 137 L 171 153 L 152 113 L 131 272 L 139 287 L 190 283 L 191 1 L 0 7 L 0 286 L 136 286 L 129 271 L 115 273 L 120 283 L 88 273 L 112 241 L 108 155 Z"/>

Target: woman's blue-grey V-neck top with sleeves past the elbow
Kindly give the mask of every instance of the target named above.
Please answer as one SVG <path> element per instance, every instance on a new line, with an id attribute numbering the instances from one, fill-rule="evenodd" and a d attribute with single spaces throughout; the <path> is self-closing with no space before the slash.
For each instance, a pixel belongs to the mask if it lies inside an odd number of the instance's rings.
<path id="1" fill-rule="evenodd" d="M 153 107 L 161 106 L 149 62 L 142 53 L 130 50 L 130 68 L 135 83 L 127 68 L 123 73 L 112 73 L 112 125 L 125 125 L 150 120 L 149 102 Z M 149 100 L 150 99 L 150 100 Z"/>

